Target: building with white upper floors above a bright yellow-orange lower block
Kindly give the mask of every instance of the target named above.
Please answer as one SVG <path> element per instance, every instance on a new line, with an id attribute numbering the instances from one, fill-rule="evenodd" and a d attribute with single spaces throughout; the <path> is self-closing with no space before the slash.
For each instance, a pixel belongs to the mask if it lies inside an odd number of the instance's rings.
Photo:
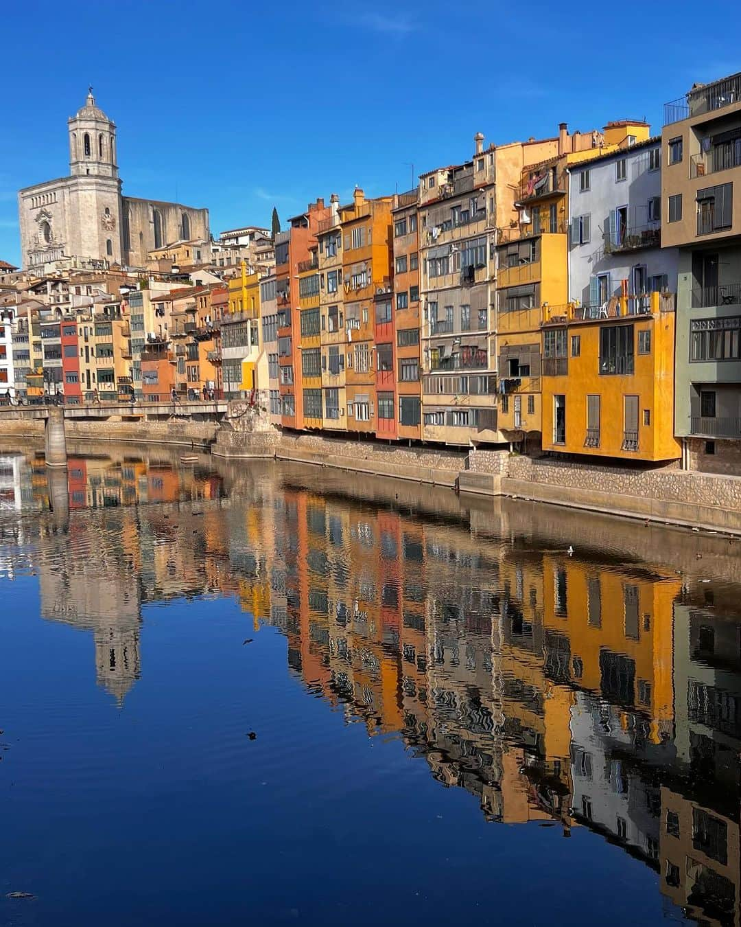
<path id="1" fill-rule="evenodd" d="M 569 169 L 571 301 L 544 302 L 542 446 L 666 461 L 681 451 L 668 400 L 677 251 L 659 247 L 659 142 L 626 130 L 634 144 Z"/>

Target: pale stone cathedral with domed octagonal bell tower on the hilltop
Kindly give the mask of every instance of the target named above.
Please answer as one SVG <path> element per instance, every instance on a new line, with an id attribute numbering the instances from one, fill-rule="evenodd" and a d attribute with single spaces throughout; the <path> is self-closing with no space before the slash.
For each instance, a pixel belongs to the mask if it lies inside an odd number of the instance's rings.
<path id="1" fill-rule="evenodd" d="M 93 88 L 68 121 L 69 177 L 19 191 L 24 270 L 78 264 L 144 267 L 147 252 L 207 240 L 208 210 L 121 195 L 116 125 Z"/>

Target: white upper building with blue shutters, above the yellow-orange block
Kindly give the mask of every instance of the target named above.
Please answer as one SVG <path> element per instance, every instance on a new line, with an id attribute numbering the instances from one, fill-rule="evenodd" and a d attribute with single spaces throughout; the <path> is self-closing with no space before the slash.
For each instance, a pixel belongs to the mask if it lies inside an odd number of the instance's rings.
<path id="1" fill-rule="evenodd" d="M 610 298 L 640 311 L 648 293 L 676 292 L 678 252 L 661 248 L 661 139 L 570 170 L 569 298 L 597 315 Z"/>

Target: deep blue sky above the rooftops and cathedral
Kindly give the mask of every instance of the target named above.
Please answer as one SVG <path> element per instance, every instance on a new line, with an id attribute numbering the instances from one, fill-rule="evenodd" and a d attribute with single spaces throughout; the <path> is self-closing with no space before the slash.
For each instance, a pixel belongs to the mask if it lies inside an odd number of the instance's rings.
<path id="1" fill-rule="evenodd" d="M 713 23 L 713 28 L 708 25 Z M 721 32 L 718 27 L 721 27 Z M 211 230 L 270 224 L 356 184 L 378 196 L 489 142 L 646 118 L 741 70 L 718 41 L 741 7 L 39 0 L 4 10 L 0 259 L 16 193 L 68 173 L 67 119 L 94 84 L 131 196 L 206 206 Z"/>

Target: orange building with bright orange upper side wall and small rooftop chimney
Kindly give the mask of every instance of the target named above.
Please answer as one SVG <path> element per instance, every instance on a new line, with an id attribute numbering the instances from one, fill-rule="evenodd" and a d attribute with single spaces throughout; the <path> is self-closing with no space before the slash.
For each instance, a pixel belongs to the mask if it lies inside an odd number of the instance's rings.
<path id="1" fill-rule="evenodd" d="M 366 199 L 356 187 L 353 202 L 340 209 L 342 277 L 347 352 L 347 430 L 396 437 L 394 340 L 391 308 L 391 209 L 393 197 Z M 376 300 L 376 297 L 380 297 Z M 377 408 L 377 381 L 383 407 Z M 382 425 L 383 422 L 383 425 Z"/>

